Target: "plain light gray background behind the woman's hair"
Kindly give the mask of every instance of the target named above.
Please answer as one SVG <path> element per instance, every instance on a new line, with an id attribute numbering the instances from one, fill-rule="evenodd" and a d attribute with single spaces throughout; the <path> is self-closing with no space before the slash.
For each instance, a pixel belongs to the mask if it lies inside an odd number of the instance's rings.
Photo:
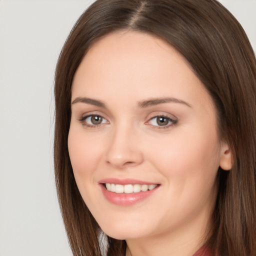
<path id="1" fill-rule="evenodd" d="M 68 256 L 56 199 L 53 76 L 93 0 L 0 0 L 0 256 Z M 256 49 L 256 0 L 221 0 Z"/>

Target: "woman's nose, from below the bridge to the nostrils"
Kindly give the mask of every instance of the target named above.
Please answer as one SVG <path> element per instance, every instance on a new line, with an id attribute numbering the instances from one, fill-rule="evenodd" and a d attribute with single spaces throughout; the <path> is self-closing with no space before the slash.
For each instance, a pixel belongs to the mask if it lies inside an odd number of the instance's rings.
<path id="1" fill-rule="evenodd" d="M 119 169 L 140 164 L 143 161 L 143 153 L 139 140 L 133 130 L 124 127 L 116 128 L 109 137 L 106 162 Z"/>

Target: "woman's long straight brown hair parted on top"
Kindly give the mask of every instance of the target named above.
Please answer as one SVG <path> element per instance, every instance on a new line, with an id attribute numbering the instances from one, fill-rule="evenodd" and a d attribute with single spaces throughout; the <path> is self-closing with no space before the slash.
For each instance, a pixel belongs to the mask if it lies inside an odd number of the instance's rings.
<path id="1" fill-rule="evenodd" d="M 218 195 L 207 245 L 221 256 L 256 255 L 256 61 L 238 21 L 216 0 L 97 0 L 77 20 L 55 73 L 54 164 L 57 194 L 74 255 L 101 255 L 100 228 L 77 189 L 67 149 L 71 85 L 90 46 L 117 30 L 157 36 L 178 50 L 210 93 L 218 132 L 233 165 L 218 171 Z M 107 237 L 107 255 L 125 241 Z"/>

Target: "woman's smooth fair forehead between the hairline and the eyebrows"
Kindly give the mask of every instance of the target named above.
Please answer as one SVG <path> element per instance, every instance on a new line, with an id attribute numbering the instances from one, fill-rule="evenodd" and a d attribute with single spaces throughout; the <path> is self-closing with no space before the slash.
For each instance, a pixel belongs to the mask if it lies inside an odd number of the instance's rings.
<path id="1" fill-rule="evenodd" d="M 186 59 L 172 46 L 135 31 L 115 32 L 98 40 L 76 70 L 72 98 L 104 97 L 106 92 L 110 96 L 109 91 L 137 100 L 166 94 L 185 100 L 205 93 Z"/>

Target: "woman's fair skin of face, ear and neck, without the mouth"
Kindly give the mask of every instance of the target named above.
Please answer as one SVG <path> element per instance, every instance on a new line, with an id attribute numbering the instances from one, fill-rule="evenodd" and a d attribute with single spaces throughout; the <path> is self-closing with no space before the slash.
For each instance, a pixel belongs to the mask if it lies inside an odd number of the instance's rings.
<path id="1" fill-rule="evenodd" d="M 72 102 L 86 97 L 105 105 L 73 102 L 68 136 L 78 189 L 99 226 L 126 239 L 127 256 L 191 256 L 207 237 L 216 173 L 230 168 L 231 154 L 218 138 L 212 99 L 187 61 L 159 38 L 115 32 L 86 53 L 71 94 Z M 175 101 L 138 106 L 166 97 Z M 91 114 L 102 122 L 80 120 Z M 159 186 L 133 205 L 116 205 L 99 184 L 109 177 Z"/>

